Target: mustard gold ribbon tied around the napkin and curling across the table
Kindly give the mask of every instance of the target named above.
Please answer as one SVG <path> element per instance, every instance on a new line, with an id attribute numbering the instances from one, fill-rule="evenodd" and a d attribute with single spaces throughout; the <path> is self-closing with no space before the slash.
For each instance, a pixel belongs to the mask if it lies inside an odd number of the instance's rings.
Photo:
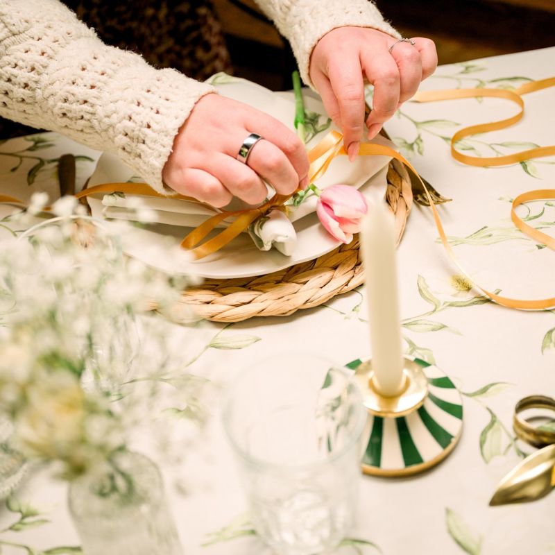
<path id="1" fill-rule="evenodd" d="M 476 135 L 477 133 L 487 133 L 488 131 L 499 130 L 517 123 L 522 119 L 524 114 L 524 100 L 522 99 L 522 94 L 528 94 L 529 92 L 535 92 L 547 87 L 555 86 L 555 77 L 533 81 L 531 83 L 525 83 L 518 89 L 509 91 L 506 89 L 486 89 L 486 88 L 475 88 L 475 89 L 449 89 L 440 91 L 427 91 L 419 92 L 413 97 L 413 101 L 416 102 L 434 102 L 443 100 L 454 100 L 454 99 L 469 99 L 469 98 L 481 98 L 484 96 L 507 99 L 513 101 L 520 107 L 520 111 L 512 117 L 502 119 L 499 121 L 493 121 L 490 123 L 481 123 L 475 126 L 469 126 L 457 131 L 451 139 L 451 153 L 452 156 L 462 162 L 463 164 L 468 164 L 475 167 L 488 167 L 488 166 L 502 166 L 506 164 L 515 164 L 522 162 L 524 160 L 529 160 L 535 157 L 544 157 L 555 155 L 555 145 L 552 146 L 540 146 L 537 148 L 531 148 L 518 153 L 513 153 L 510 155 L 498 156 L 498 157 L 474 157 L 461 153 L 456 150 L 456 143 L 465 137 L 470 137 L 471 135 Z M 343 147 L 343 135 L 337 133 L 336 131 L 331 131 L 327 133 L 325 137 L 308 153 L 310 169 L 309 169 L 309 180 L 315 181 L 321 178 L 323 174 L 327 171 L 332 161 L 337 156 L 346 155 L 347 152 Z M 527 299 L 513 299 L 509 297 L 500 296 L 493 291 L 488 291 L 479 284 L 476 284 L 474 280 L 468 275 L 468 273 L 461 266 L 459 260 L 456 258 L 452 246 L 449 244 L 445 230 L 443 229 L 443 223 L 438 214 L 438 210 L 432 196 L 422 181 L 416 169 L 413 168 L 411 163 L 398 151 L 388 146 L 364 143 L 360 146 L 359 155 L 372 156 L 372 155 L 383 155 L 395 158 L 402 164 L 409 167 L 416 175 L 418 180 L 422 183 L 425 194 L 429 201 L 430 209 L 432 210 L 432 215 L 434 217 L 434 223 L 438 230 L 439 237 L 443 247 L 450 256 L 452 262 L 459 268 L 461 273 L 466 276 L 475 287 L 480 289 L 486 296 L 491 300 L 497 302 L 499 305 L 505 307 L 516 308 L 516 309 L 528 309 L 528 310 L 542 310 L 555 307 L 555 297 L 537 299 L 537 300 L 527 300 Z M 162 195 L 157 193 L 154 189 L 146 185 L 146 183 L 104 183 L 102 185 L 96 185 L 94 187 L 89 187 L 83 191 L 76 194 L 76 198 L 83 198 L 86 196 L 91 196 L 99 193 L 114 193 L 123 192 L 128 194 L 137 194 L 141 196 L 159 197 L 159 198 L 177 198 L 180 200 L 189 200 L 194 202 L 199 202 L 194 198 L 187 196 L 182 196 L 180 194 L 173 194 L 170 196 Z M 253 223 L 259 216 L 262 216 L 273 210 L 274 208 L 282 208 L 284 203 L 291 198 L 292 195 L 280 195 L 275 194 L 273 198 L 266 201 L 259 207 L 248 209 L 248 210 L 237 210 L 234 212 L 219 212 L 214 214 L 191 231 L 185 239 L 181 242 L 181 246 L 190 250 L 191 255 L 196 259 L 203 258 L 207 255 L 215 253 L 217 250 L 228 244 L 232 239 L 237 237 L 241 232 L 244 232 L 248 226 Z M 518 195 L 513 200 L 513 205 L 511 207 L 511 219 L 515 226 L 520 229 L 524 234 L 528 235 L 535 241 L 545 244 L 545 246 L 555 250 L 555 239 L 549 235 L 540 232 L 531 225 L 525 223 L 518 214 L 516 214 L 515 209 L 524 203 L 531 200 L 547 200 L 555 199 L 555 189 L 537 189 L 534 191 L 527 191 L 526 193 Z M 11 197 L 0 195 L 0 202 L 7 203 L 19 203 L 24 204 L 21 200 Z M 212 232 L 219 223 L 226 219 L 233 219 L 234 221 L 228 225 L 223 231 L 219 232 L 215 237 L 208 239 L 204 243 L 201 243 L 203 239 L 207 237 L 210 232 Z"/>

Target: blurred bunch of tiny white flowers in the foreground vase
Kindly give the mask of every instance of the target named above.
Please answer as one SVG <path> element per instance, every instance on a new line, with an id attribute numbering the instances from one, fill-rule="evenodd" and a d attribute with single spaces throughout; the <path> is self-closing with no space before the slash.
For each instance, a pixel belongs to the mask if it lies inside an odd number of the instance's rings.
<path id="1" fill-rule="evenodd" d="M 34 195 L 29 212 L 47 202 Z M 128 259 L 117 234 L 76 208 L 62 198 L 56 218 L 0 242 L 0 416 L 14 423 L 17 448 L 61 463 L 67 477 L 124 447 L 148 410 L 160 413 L 167 376 L 191 357 L 147 312 L 169 314 L 188 278 Z M 198 398 L 181 393 L 182 404 Z"/>

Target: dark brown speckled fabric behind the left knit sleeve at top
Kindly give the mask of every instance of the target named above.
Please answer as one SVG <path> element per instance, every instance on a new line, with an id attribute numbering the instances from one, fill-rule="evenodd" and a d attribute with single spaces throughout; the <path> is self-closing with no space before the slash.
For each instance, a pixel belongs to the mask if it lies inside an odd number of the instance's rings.
<path id="1" fill-rule="evenodd" d="M 131 50 L 155 67 L 174 67 L 205 80 L 232 73 L 230 55 L 211 1 L 62 0 L 101 40 Z M 0 138 L 36 130 L 0 118 Z"/>

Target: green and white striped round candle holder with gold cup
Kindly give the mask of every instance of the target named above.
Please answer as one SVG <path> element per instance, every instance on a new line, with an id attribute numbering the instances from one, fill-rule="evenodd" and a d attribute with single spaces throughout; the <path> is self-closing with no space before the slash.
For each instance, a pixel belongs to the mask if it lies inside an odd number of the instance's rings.
<path id="1" fill-rule="evenodd" d="M 355 370 L 368 410 L 365 474 L 400 477 L 424 472 L 452 452 L 463 428 L 461 393 L 443 370 L 404 357 L 404 388 L 398 397 L 379 395 L 370 359 L 345 365 Z"/>

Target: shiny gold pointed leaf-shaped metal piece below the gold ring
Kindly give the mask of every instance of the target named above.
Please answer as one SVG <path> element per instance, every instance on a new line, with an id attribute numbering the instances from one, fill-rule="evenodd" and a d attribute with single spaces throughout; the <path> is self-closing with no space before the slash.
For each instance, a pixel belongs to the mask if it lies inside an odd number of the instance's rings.
<path id="1" fill-rule="evenodd" d="M 490 506 L 528 503 L 541 499 L 555 488 L 555 445 L 527 456 L 502 479 Z"/>

